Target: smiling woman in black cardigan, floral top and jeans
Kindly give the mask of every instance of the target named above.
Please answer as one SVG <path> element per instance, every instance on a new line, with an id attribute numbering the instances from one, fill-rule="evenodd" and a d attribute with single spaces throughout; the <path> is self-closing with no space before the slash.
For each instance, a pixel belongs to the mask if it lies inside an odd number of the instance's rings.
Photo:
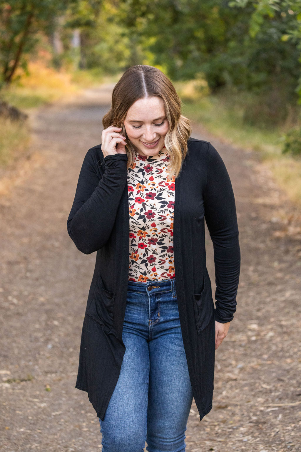
<path id="1" fill-rule="evenodd" d="M 155 67 L 125 71 L 102 123 L 67 222 L 80 251 L 97 251 L 75 387 L 97 412 L 103 452 L 141 452 L 145 441 L 148 451 L 184 451 L 193 397 L 200 420 L 212 408 L 215 349 L 236 311 L 232 184 L 218 151 L 190 137 Z"/>

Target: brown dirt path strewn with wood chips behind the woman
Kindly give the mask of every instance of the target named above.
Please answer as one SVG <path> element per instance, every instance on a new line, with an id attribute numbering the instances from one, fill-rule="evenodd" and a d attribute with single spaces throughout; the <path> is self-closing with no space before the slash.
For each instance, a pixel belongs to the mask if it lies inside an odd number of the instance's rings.
<path id="1" fill-rule="evenodd" d="M 83 156 L 101 141 L 110 89 L 42 108 L 33 119 L 33 148 L 43 164 L 0 198 L 3 451 L 101 448 L 96 413 L 87 393 L 74 388 L 95 256 L 75 248 L 66 220 Z M 300 212 L 255 153 L 196 124 L 192 136 L 211 141 L 226 163 L 242 263 L 235 320 L 216 352 L 214 408 L 200 422 L 193 403 L 186 450 L 301 451 L 301 236 L 281 221 L 297 221 Z"/>

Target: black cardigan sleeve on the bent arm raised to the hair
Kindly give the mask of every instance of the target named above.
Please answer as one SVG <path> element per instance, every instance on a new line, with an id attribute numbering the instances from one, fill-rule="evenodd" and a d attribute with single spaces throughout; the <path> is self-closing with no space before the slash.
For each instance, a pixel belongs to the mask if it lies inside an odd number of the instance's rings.
<path id="1" fill-rule="evenodd" d="M 67 229 L 84 254 L 99 250 L 110 237 L 126 183 L 127 160 L 126 154 L 107 155 L 101 178 L 93 149 L 83 160 Z"/>

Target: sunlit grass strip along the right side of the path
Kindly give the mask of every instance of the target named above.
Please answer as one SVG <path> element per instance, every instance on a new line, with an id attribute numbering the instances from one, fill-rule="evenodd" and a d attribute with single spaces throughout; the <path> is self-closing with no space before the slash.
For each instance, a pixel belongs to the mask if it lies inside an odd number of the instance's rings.
<path id="1" fill-rule="evenodd" d="M 278 186 L 292 202 L 301 206 L 301 158 L 282 154 L 283 127 L 259 128 L 246 124 L 243 109 L 218 96 L 199 96 L 196 100 L 183 98 L 183 114 L 200 122 L 218 138 L 252 149 L 272 171 Z"/>

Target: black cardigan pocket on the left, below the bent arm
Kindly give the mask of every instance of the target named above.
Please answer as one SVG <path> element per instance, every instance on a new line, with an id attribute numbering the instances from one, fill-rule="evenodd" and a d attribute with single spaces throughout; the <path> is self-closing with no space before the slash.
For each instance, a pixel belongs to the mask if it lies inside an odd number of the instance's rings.
<path id="1" fill-rule="evenodd" d="M 103 287 L 102 277 L 98 275 L 93 298 L 89 304 L 86 314 L 102 329 L 109 333 L 114 320 L 115 292 L 109 292 Z"/>

